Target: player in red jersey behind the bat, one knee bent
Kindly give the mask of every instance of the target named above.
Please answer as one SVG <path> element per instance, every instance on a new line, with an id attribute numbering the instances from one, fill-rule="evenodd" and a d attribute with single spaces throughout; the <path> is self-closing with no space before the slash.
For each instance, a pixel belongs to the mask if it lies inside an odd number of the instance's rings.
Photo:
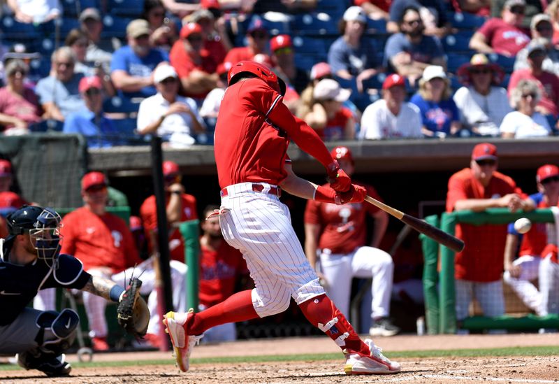
<path id="1" fill-rule="evenodd" d="M 335 147 L 331 155 L 351 177 L 354 158 L 349 148 Z M 382 201 L 375 188 L 360 185 L 367 189 L 369 196 Z M 370 246 L 365 246 L 367 215 L 375 218 Z M 388 214 L 371 204 L 340 206 L 309 200 L 305 209 L 307 259 L 316 269 L 319 255 L 324 289 L 342 313 L 349 315 L 352 278 L 372 278 L 371 336 L 393 336 L 400 331 L 388 318 L 394 263 L 388 253 L 378 248 L 388 224 Z"/>

